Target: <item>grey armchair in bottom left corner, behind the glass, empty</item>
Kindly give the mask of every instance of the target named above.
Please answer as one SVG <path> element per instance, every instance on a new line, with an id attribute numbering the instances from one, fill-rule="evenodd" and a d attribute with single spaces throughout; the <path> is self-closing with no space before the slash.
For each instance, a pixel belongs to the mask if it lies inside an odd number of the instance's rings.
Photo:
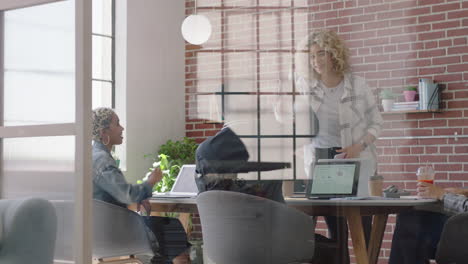
<path id="1" fill-rule="evenodd" d="M 0 200 L 0 223 L 0 263 L 52 263 L 57 218 L 50 202 Z"/>

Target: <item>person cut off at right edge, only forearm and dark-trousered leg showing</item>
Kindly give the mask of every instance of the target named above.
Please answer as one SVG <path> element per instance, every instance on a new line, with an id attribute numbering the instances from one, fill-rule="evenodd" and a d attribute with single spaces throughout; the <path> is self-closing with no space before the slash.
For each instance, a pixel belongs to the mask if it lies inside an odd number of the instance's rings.
<path id="1" fill-rule="evenodd" d="M 468 211 L 468 189 L 441 188 L 418 183 L 418 195 L 434 198 L 452 213 Z M 428 211 L 411 211 L 397 217 L 389 264 L 426 264 L 435 257 L 437 244 L 449 216 Z"/>

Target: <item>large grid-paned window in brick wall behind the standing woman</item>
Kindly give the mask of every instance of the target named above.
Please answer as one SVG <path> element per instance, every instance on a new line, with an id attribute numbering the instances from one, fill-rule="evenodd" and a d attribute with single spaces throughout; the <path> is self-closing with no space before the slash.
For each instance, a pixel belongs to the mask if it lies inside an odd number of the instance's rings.
<path id="1" fill-rule="evenodd" d="M 294 47 L 308 32 L 307 1 L 195 3 L 197 13 L 210 19 L 213 34 L 188 60 L 187 81 L 194 87 L 189 89 L 189 118 L 228 124 L 252 161 L 292 164 L 289 170 L 246 178 L 304 179 L 304 162 L 297 154 L 313 133 L 308 112 L 293 114 L 300 95 L 291 76 Z"/>

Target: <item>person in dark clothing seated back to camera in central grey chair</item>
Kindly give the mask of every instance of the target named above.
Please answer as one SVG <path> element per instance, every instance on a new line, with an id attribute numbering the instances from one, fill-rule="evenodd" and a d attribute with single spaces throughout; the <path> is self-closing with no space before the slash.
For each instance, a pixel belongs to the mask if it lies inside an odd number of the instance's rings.
<path id="1" fill-rule="evenodd" d="M 251 162 L 242 140 L 229 127 L 202 142 L 196 151 L 195 181 L 200 192 L 225 190 L 261 196 L 284 202 L 282 181 L 247 181 L 239 173 L 271 171 L 291 167 L 288 162 Z"/>

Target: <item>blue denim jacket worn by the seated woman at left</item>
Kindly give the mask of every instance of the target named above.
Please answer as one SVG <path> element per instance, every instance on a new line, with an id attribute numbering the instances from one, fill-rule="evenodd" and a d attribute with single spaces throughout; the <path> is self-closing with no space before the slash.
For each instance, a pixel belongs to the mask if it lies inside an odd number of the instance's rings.
<path id="1" fill-rule="evenodd" d="M 93 144 L 93 198 L 118 206 L 138 203 L 151 197 L 148 183 L 129 184 L 109 150 L 100 142 Z"/>

